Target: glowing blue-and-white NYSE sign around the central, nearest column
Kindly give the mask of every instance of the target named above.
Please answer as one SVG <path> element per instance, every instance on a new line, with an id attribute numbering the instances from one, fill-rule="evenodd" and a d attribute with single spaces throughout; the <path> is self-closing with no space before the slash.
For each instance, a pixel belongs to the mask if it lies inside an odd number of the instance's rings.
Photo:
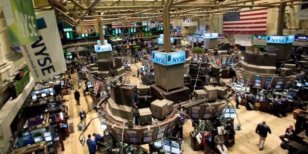
<path id="1" fill-rule="evenodd" d="M 152 61 L 165 66 L 184 63 L 186 61 L 185 51 L 152 51 Z"/>

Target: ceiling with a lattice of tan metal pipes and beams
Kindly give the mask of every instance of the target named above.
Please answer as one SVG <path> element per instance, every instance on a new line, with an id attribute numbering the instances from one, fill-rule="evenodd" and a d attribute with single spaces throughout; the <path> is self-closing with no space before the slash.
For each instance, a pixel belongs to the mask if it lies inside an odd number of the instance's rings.
<path id="1" fill-rule="evenodd" d="M 33 0 L 36 11 L 55 9 L 62 21 L 75 25 L 103 25 L 117 22 L 141 22 L 162 20 L 162 10 L 168 0 Z M 242 8 L 264 9 L 305 4 L 301 0 L 174 0 L 170 8 L 170 20 L 209 18 Z M 211 17 L 212 17 L 211 16 Z"/>

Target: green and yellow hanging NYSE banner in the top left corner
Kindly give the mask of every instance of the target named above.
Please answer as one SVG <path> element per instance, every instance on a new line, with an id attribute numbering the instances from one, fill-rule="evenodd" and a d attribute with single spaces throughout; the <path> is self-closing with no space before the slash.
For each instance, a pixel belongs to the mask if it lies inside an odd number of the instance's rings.
<path id="1" fill-rule="evenodd" d="M 32 0 L 0 0 L 13 47 L 39 39 Z"/>

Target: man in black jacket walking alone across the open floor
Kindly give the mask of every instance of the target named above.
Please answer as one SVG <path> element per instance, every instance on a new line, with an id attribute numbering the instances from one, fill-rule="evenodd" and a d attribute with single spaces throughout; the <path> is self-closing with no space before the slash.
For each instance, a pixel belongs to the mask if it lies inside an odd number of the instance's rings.
<path id="1" fill-rule="evenodd" d="M 271 129 L 265 125 L 266 121 L 263 120 L 262 123 L 259 123 L 256 128 L 256 133 L 260 136 L 259 140 L 259 151 L 263 150 L 263 145 L 265 138 L 267 137 L 267 132 L 272 133 Z"/>

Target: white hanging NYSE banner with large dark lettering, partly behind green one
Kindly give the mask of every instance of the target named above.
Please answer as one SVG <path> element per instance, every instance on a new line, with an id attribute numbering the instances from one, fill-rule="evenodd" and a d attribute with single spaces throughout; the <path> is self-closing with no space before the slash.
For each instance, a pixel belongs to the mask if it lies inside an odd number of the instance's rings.
<path id="1" fill-rule="evenodd" d="M 66 71 L 54 10 L 36 15 L 39 40 L 20 46 L 35 81 Z"/>

